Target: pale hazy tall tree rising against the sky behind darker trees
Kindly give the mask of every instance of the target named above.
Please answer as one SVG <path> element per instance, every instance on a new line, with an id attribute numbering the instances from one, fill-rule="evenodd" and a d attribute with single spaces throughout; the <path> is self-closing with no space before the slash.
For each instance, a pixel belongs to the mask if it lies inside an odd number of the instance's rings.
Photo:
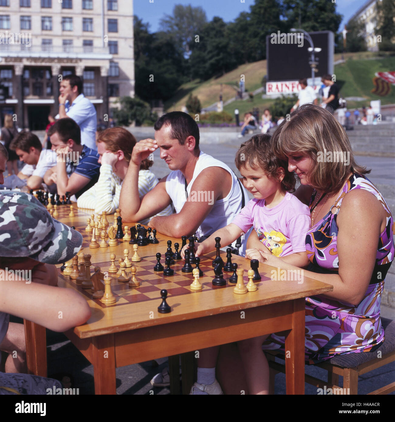
<path id="1" fill-rule="evenodd" d="M 201 6 L 177 4 L 173 8 L 173 15 L 165 15 L 161 19 L 160 27 L 163 32 L 172 34 L 176 48 L 188 57 L 194 48 L 195 36 L 199 35 L 206 23 L 206 12 Z"/>

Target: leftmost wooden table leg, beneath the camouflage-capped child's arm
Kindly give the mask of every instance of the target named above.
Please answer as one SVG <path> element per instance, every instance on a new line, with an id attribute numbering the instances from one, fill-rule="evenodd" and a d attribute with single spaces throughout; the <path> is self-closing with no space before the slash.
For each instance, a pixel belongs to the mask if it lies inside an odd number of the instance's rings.
<path id="1" fill-rule="evenodd" d="M 24 319 L 23 323 L 25 325 L 27 373 L 47 376 L 45 327 L 27 321 L 27 319 Z"/>

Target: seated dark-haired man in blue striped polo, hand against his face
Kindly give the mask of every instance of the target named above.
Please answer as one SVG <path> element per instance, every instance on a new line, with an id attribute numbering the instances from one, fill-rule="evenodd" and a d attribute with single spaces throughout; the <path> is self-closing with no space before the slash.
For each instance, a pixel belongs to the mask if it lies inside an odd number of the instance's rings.
<path id="1" fill-rule="evenodd" d="M 60 197 L 71 192 L 78 198 L 98 181 L 98 152 L 81 145 L 81 130 L 69 117 L 59 119 L 51 126 L 48 136 L 57 162 L 45 173 L 44 182 L 47 185 L 56 183 Z"/>

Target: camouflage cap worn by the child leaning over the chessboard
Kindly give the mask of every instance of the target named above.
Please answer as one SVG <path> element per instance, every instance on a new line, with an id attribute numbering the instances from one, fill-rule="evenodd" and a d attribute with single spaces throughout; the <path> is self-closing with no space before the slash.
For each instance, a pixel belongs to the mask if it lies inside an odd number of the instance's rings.
<path id="1" fill-rule="evenodd" d="M 1 257 L 59 264 L 81 249 L 82 235 L 53 219 L 33 195 L 1 192 L 0 207 Z"/>

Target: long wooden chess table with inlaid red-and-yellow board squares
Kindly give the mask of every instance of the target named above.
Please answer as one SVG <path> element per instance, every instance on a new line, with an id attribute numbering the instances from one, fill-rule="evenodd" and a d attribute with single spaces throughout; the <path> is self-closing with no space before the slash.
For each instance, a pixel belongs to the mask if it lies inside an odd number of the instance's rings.
<path id="1" fill-rule="evenodd" d="M 75 217 L 68 217 L 69 206 L 60 206 L 57 219 L 75 226 L 82 233 L 82 252 L 92 255 L 92 267 L 98 265 L 102 272 L 107 271 L 111 253 L 116 255 L 118 266 L 118 258 L 123 257 L 125 248 L 131 252 L 131 258 L 133 248 L 128 242 L 89 249 L 92 233 L 86 233 L 85 227 L 92 212 L 73 205 Z M 113 216 L 107 216 L 107 219 L 110 225 L 114 222 Z M 132 224 L 123 222 L 123 227 Z M 116 394 L 115 369 L 118 367 L 169 356 L 173 357 L 170 368 L 177 372 L 178 378 L 179 354 L 280 331 L 285 331 L 285 347 L 290 352 L 290 357 L 286 359 L 286 392 L 304 394 L 305 297 L 329 292 L 332 286 L 308 277 L 304 277 L 302 284 L 273 281 L 270 279 L 271 271 L 277 272 L 278 269 L 260 264 L 262 280 L 256 282 L 258 290 L 237 295 L 233 292 L 234 284 L 229 282 L 226 286 L 212 286 L 214 272 L 211 262 L 215 257 L 215 252 L 212 252 L 201 259 L 200 268 L 204 276 L 199 281 L 203 289 L 192 291 L 189 286 L 193 276 L 192 273 L 181 272 L 183 261 L 172 265 L 174 276 L 166 277 L 153 271 L 157 252 L 161 252 L 164 265 L 166 241 L 171 240 L 173 245 L 174 242 L 181 244 L 180 239 L 160 233 L 157 238 L 158 244 L 139 247 L 142 260 L 135 265 L 140 287 L 130 288 L 128 283 L 118 282 L 116 276 L 112 280 L 112 292 L 117 300 L 114 305 L 105 306 L 99 299 L 93 299 L 89 290 L 82 289 L 75 280 L 59 271 L 58 285 L 77 289 L 92 310 L 84 325 L 68 330 L 65 335 L 93 364 L 95 394 Z M 238 256 L 233 256 L 232 261 L 246 270 L 244 280 L 247 282 L 250 261 Z M 224 272 L 225 279 L 231 275 Z M 158 312 L 161 289 L 168 291 L 167 303 L 172 308 L 169 314 Z M 25 321 L 25 335 L 29 373 L 46 376 L 45 328 Z M 172 362 L 175 363 L 172 365 Z M 188 394 L 193 373 L 188 365 L 184 366 L 183 393 Z M 179 385 L 173 383 L 172 387 L 173 393 L 177 393 Z"/>

